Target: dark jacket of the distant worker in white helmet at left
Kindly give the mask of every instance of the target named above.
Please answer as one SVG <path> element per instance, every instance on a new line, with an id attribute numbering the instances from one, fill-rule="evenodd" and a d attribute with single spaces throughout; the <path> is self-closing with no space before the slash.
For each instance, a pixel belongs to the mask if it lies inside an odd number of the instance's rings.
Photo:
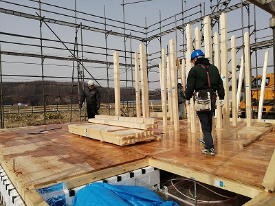
<path id="1" fill-rule="evenodd" d="M 96 104 L 97 108 L 100 107 L 100 93 L 96 87 L 93 90 L 89 89 L 89 87 L 84 89 L 81 93 L 80 105 L 83 104 L 85 99 L 87 104 Z"/>

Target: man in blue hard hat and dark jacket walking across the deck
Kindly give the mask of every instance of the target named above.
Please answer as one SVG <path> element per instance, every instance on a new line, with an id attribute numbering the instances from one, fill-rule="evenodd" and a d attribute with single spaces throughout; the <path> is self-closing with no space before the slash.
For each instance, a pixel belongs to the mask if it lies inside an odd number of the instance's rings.
<path id="1" fill-rule="evenodd" d="M 212 117 L 216 108 L 217 95 L 219 95 L 219 106 L 224 104 L 223 81 L 221 80 L 219 69 L 210 64 L 209 59 L 205 58 L 200 49 L 192 52 L 190 62 L 192 62 L 193 67 L 188 73 L 186 83 L 186 105 L 190 105 L 190 99 L 194 92 L 207 91 L 210 93 L 210 111 L 197 111 L 203 132 L 203 138 L 199 138 L 198 141 L 204 146 L 204 149 L 201 150 L 203 154 L 215 155 L 212 137 Z"/>

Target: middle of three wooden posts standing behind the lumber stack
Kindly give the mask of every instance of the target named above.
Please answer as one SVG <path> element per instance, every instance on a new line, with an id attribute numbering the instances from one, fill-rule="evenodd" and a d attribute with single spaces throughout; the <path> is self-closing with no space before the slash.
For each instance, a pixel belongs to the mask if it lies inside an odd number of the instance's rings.
<path id="1" fill-rule="evenodd" d="M 135 52 L 135 111 L 141 117 L 140 110 L 140 69 L 138 67 L 138 54 Z"/>

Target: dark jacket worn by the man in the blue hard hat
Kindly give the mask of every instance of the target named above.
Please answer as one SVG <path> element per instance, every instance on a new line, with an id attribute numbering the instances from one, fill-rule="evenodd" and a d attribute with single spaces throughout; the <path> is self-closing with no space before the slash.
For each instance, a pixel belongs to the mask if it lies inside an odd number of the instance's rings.
<path id="1" fill-rule="evenodd" d="M 203 67 L 199 66 L 198 64 L 201 64 L 205 67 L 209 65 L 208 71 L 211 83 L 210 88 L 214 91 L 217 91 L 220 100 L 224 100 L 223 81 L 221 80 L 218 68 L 214 65 L 211 65 L 208 58 L 198 58 L 195 64 L 196 65 L 192 67 L 188 73 L 186 84 L 186 100 L 190 100 L 190 98 L 192 98 L 194 91 L 209 88 L 206 69 L 203 69 Z"/>

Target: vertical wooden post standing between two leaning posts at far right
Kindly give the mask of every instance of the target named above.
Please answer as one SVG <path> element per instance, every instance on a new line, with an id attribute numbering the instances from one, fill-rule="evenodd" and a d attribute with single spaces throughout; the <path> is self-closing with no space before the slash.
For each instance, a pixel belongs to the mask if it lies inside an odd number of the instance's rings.
<path id="1" fill-rule="evenodd" d="M 252 126 L 252 108 L 251 108 L 251 66 L 250 66 L 250 35 L 245 32 L 245 114 L 246 126 Z"/>

